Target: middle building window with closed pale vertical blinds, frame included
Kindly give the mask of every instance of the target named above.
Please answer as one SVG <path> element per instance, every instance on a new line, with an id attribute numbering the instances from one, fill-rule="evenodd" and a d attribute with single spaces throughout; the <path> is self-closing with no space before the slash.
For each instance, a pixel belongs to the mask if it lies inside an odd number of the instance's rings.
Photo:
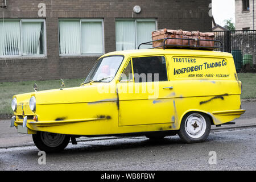
<path id="1" fill-rule="evenodd" d="M 60 55 L 102 55 L 103 37 L 102 19 L 59 21 Z"/>

